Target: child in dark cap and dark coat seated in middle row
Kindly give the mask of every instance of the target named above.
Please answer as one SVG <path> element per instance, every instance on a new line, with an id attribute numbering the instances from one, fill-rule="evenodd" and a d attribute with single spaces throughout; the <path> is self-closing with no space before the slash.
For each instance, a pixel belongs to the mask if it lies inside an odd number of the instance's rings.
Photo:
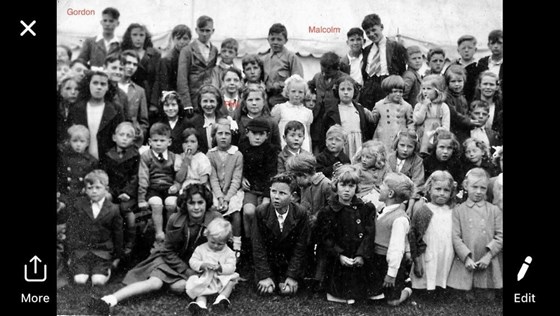
<path id="1" fill-rule="evenodd" d="M 243 228 L 245 237 L 251 238 L 251 224 L 255 208 L 270 202 L 270 178 L 276 174 L 278 151 L 267 142 L 270 133 L 268 121 L 257 117 L 246 127 L 247 137 L 239 144 L 243 154 Z"/>

